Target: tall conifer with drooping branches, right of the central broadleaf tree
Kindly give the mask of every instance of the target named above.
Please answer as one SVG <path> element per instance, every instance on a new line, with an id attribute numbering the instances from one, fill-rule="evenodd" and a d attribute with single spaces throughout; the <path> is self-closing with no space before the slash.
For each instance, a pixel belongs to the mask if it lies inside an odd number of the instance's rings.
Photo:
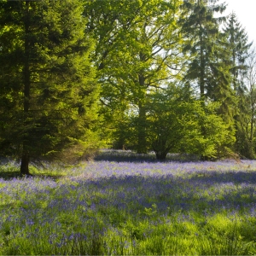
<path id="1" fill-rule="evenodd" d="M 183 51 L 190 55 L 184 80 L 194 84 L 195 91 L 199 90 L 203 105 L 209 101 L 220 102 L 217 114 L 230 127 L 229 141 L 233 142 L 236 99 L 230 86 L 231 52 L 219 29 L 225 17 L 215 17 L 224 12 L 225 4 L 217 3 L 208 0 L 183 3 L 180 19 L 186 42 Z M 205 127 L 202 126 L 201 131 L 205 131 Z"/>

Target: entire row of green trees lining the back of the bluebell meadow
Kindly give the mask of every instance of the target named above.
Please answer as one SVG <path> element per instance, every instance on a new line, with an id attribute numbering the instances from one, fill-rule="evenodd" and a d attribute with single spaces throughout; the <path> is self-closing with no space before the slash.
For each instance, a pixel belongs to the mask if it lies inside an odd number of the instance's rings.
<path id="1" fill-rule="evenodd" d="M 255 52 L 212 0 L 0 3 L 0 153 L 255 154 Z"/>

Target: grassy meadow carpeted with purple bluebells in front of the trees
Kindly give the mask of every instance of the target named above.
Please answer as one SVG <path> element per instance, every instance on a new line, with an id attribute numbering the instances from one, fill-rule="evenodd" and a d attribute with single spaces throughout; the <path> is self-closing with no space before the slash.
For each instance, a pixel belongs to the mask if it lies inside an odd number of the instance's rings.
<path id="1" fill-rule="evenodd" d="M 2 163 L 0 254 L 256 254 L 256 161 L 109 152 L 23 178 Z"/>

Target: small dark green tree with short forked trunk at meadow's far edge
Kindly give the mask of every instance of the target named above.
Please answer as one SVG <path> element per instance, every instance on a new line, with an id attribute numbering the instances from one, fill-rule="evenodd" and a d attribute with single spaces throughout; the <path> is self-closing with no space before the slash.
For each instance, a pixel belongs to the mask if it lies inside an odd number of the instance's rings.
<path id="1" fill-rule="evenodd" d="M 184 101 L 183 90 L 169 85 L 150 95 L 148 102 L 148 139 L 157 159 L 165 159 L 169 152 L 179 152 L 186 134 L 185 116 L 193 108 L 192 100 Z"/>

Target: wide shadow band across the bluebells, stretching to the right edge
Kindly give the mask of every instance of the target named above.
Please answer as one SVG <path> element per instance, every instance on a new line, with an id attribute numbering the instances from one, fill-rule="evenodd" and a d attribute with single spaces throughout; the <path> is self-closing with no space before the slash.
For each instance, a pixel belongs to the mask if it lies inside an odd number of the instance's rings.
<path id="1" fill-rule="evenodd" d="M 130 209 L 144 212 L 146 208 L 152 208 L 153 204 L 160 214 L 164 214 L 168 208 L 170 212 L 255 211 L 256 172 L 210 172 L 206 177 L 196 174 L 194 177 L 112 176 L 80 182 L 81 188 L 107 193 L 106 197 L 96 198 L 94 203 L 99 209 L 114 207 L 134 214 L 134 217 L 137 212 Z M 242 177 L 242 174 L 245 175 Z"/>

